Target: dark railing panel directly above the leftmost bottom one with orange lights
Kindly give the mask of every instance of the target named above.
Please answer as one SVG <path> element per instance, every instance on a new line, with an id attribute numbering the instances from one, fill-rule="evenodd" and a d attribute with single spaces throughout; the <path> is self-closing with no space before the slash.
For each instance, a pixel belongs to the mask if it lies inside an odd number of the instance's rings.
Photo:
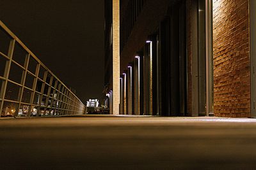
<path id="1" fill-rule="evenodd" d="M 19 85 L 8 82 L 4 98 L 11 101 L 18 101 L 20 89 L 21 87 Z"/>

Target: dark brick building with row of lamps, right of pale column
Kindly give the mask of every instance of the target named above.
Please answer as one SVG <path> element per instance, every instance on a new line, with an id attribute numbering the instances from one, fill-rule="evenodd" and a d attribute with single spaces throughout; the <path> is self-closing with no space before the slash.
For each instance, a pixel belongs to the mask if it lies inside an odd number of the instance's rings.
<path id="1" fill-rule="evenodd" d="M 255 117 L 255 4 L 121 0 L 119 113 Z"/>

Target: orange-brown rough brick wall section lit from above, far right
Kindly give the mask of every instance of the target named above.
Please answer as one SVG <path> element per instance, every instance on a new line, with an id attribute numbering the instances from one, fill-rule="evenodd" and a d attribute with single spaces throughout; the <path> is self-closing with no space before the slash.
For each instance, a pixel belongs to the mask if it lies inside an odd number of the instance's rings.
<path id="1" fill-rule="evenodd" d="M 214 113 L 250 117 L 248 0 L 213 4 Z"/>

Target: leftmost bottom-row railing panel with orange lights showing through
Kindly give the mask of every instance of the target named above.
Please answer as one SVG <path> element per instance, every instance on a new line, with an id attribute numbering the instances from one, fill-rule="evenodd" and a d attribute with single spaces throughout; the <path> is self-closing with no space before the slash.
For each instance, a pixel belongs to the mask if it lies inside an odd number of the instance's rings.
<path id="1" fill-rule="evenodd" d="M 19 104 L 4 102 L 1 117 L 14 117 L 18 113 Z"/>

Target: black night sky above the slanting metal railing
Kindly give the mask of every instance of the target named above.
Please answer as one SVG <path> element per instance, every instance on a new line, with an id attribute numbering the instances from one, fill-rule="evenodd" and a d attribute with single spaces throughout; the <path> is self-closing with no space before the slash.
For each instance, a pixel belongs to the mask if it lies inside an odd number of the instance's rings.
<path id="1" fill-rule="evenodd" d="M 101 96 L 103 0 L 0 0 L 0 20 L 84 103 Z"/>

